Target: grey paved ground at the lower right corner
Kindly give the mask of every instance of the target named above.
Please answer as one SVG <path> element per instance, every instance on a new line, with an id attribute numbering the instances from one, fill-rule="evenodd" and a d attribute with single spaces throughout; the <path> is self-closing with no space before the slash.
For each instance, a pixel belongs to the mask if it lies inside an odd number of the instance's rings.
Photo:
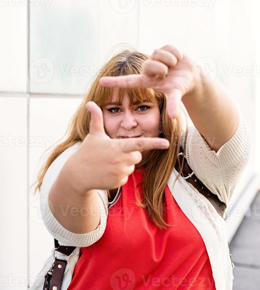
<path id="1" fill-rule="evenodd" d="M 233 290 L 260 290 L 260 191 L 230 243 Z"/>

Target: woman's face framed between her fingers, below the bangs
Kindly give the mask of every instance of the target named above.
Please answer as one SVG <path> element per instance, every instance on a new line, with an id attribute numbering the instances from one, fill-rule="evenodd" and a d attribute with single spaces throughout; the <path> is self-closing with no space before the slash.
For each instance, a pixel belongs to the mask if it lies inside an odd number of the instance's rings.
<path id="1" fill-rule="evenodd" d="M 113 97 L 112 102 L 116 98 Z M 129 108 L 125 94 L 122 104 L 106 104 L 103 107 L 104 128 L 110 138 L 159 137 L 160 111 L 157 102 L 143 102 Z"/>

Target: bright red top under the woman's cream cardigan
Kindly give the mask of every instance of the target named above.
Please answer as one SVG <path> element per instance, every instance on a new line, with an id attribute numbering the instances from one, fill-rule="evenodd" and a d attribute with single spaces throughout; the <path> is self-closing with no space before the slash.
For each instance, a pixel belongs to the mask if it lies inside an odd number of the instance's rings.
<path id="1" fill-rule="evenodd" d="M 81 248 L 68 289 L 215 290 L 209 256 L 198 230 L 166 185 L 164 220 L 173 226 L 161 231 L 146 211 L 135 205 L 134 188 L 141 181 L 135 168 L 117 202 L 109 207 L 103 236 Z M 137 195 L 142 200 L 142 185 Z"/>

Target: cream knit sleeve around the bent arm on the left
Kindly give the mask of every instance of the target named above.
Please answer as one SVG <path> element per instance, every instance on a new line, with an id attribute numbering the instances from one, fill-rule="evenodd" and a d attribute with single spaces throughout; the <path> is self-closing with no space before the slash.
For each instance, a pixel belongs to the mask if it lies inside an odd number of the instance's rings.
<path id="1" fill-rule="evenodd" d="M 106 191 L 98 190 L 101 212 L 100 224 L 95 230 L 84 234 L 72 233 L 71 231 L 68 231 L 66 228 L 64 228 L 52 214 L 48 202 L 49 191 L 52 184 L 58 177 L 59 172 L 65 162 L 77 150 L 79 145 L 80 142 L 67 148 L 54 160 L 54 162 L 52 162 L 46 171 L 40 191 L 40 205 L 43 223 L 49 233 L 59 241 L 60 245 L 88 247 L 101 238 L 106 228 L 106 220 L 108 216 L 108 199 Z"/>

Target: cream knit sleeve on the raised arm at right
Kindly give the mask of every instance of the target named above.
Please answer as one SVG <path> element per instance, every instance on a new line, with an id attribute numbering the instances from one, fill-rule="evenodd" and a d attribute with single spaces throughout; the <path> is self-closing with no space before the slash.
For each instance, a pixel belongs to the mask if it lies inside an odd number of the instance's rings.
<path id="1" fill-rule="evenodd" d="M 184 142 L 184 138 L 185 132 L 182 142 Z M 238 128 L 217 153 L 211 150 L 196 127 L 190 126 L 185 155 L 195 175 L 227 205 L 249 162 L 251 148 L 252 136 L 248 124 L 240 112 Z"/>

